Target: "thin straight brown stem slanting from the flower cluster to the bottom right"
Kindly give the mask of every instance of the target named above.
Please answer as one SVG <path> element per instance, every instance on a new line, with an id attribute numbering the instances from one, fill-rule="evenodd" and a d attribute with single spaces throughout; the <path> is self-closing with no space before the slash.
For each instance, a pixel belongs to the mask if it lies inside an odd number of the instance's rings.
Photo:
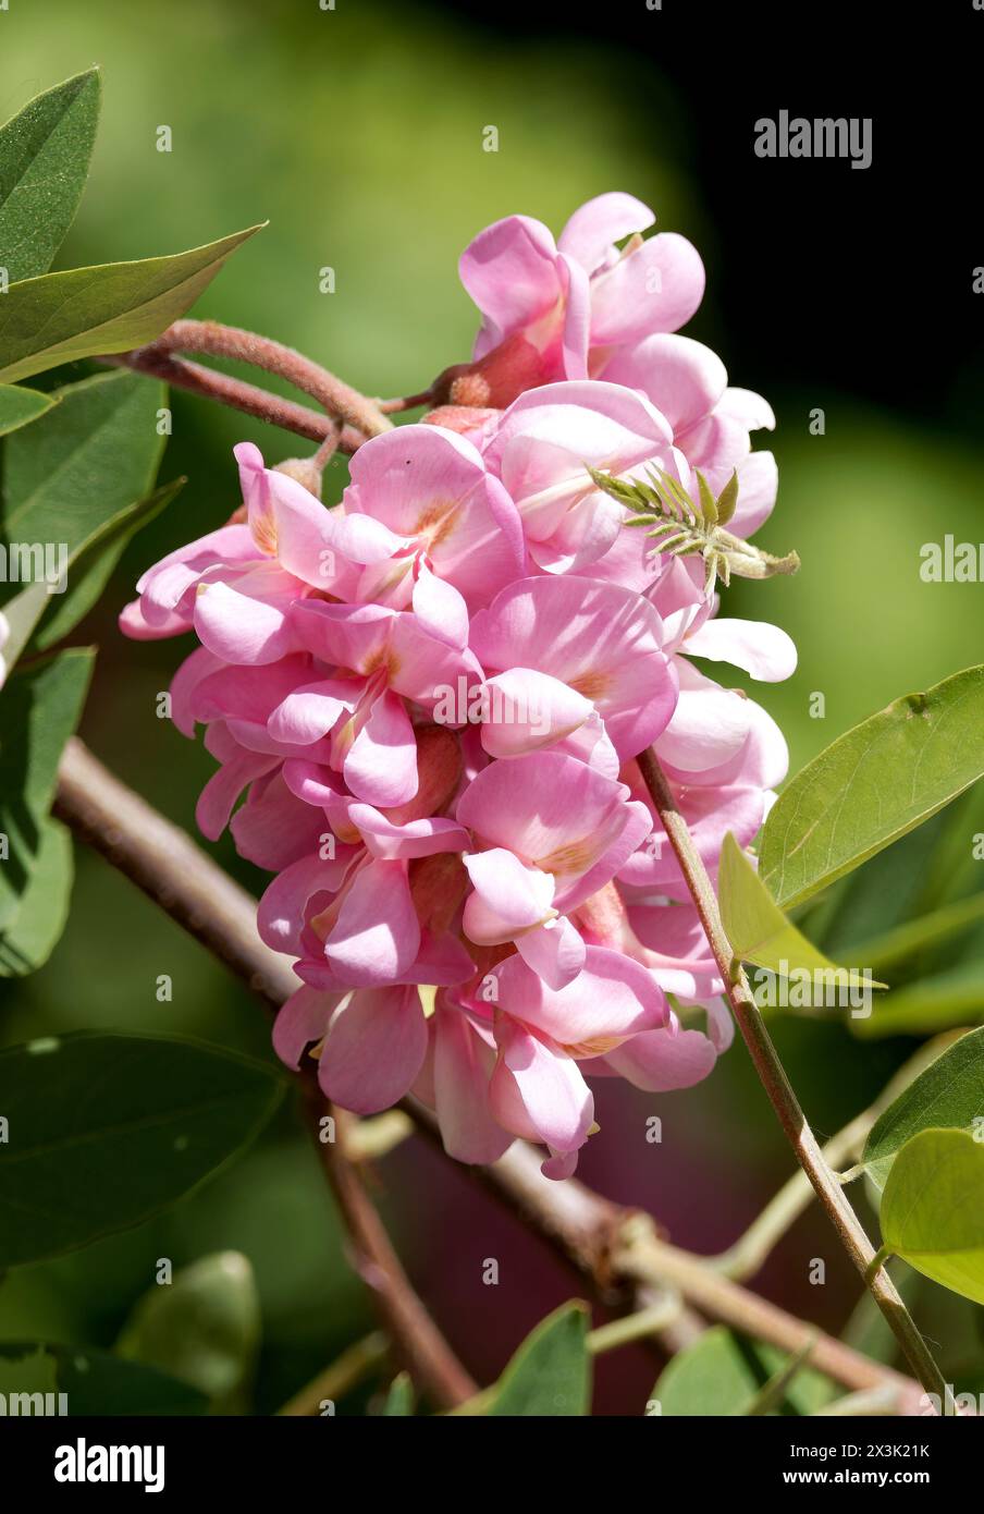
<path id="1" fill-rule="evenodd" d="M 837 1179 L 837 1175 L 831 1172 L 824 1160 L 821 1145 L 799 1107 L 799 1099 L 796 1098 L 786 1075 L 786 1069 L 780 1061 L 780 1055 L 772 1045 L 772 1037 L 769 1036 L 758 1005 L 755 1004 L 748 978 L 745 977 L 740 963 L 734 961 L 731 945 L 725 936 L 724 925 L 721 924 L 721 911 L 718 908 L 718 898 L 715 895 L 713 884 L 704 861 L 693 845 L 687 822 L 677 807 L 677 801 L 672 795 L 669 783 L 666 781 L 666 775 L 660 768 L 659 759 L 655 752 L 649 749 L 642 752 L 637 762 L 643 783 L 649 790 L 652 804 L 655 805 L 655 813 L 669 836 L 669 843 L 674 848 L 687 889 L 696 905 L 701 925 L 704 927 L 715 961 L 718 963 L 718 970 L 721 972 L 725 984 L 724 992 L 728 1004 L 734 1011 L 734 1019 L 737 1020 L 739 1030 L 745 1037 L 745 1045 L 748 1046 L 758 1078 L 769 1095 L 769 1101 L 778 1116 L 780 1125 L 786 1131 L 789 1143 L 796 1154 L 796 1160 L 810 1178 L 821 1204 L 833 1220 L 848 1255 L 861 1273 L 866 1287 L 870 1290 L 878 1308 L 892 1326 L 892 1331 L 895 1332 L 895 1337 L 913 1372 L 922 1382 L 926 1393 L 933 1393 L 939 1397 L 939 1402 L 946 1413 L 948 1405 L 951 1403 L 951 1396 L 946 1382 L 943 1381 L 943 1373 L 936 1364 L 925 1340 L 919 1334 L 916 1322 L 905 1308 L 905 1304 L 902 1302 L 902 1297 L 899 1296 L 899 1291 L 892 1282 L 892 1278 L 886 1272 L 884 1266 L 878 1266 L 877 1269 L 872 1266 L 875 1261 L 875 1248 L 867 1238 L 864 1226 L 854 1213 L 851 1201 Z"/>

